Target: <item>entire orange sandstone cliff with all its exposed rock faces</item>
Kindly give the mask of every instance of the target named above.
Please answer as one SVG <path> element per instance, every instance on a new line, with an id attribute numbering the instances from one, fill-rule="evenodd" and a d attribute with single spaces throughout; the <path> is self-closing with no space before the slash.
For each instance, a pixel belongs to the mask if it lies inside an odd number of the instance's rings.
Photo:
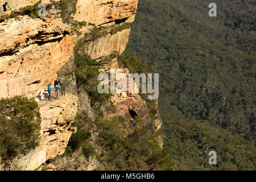
<path id="1" fill-rule="evenodd" d="M 0 6 L 1 14 L 10 14 L 11 10 L 18 11 L 20 7 L 34 5 L 38 1 L 0 1 L 1 4 L 5 2 L 8 2 L 10 9 L 3 12 Z M 77 111 L 95 121 L 88 95 L 76 90 L 73 48 L 83 43 L 85 51 L 94 61 L 101 61 L 113 52 L 120 55 L 129 40 L 130 23 L 134 21 L 138 0 L 74 1 L 76 11 L 71 14 L 73 21 L 86 23 L 78 30 L 73 24 L 64 23 L 60 10 L 54 10 L 54 6 L 51 6 L 59 1 L 42 2 L 51 7 L 51 10 L 47 10 L 47 18 L 24 15 L 0 23 L 0 98 L 15 95 L 35 98 L 57 76 L 67 84 L 67 92 L 77 96 L 67 93 L 60 100 L 40 107 L 40 145 L 26 156 L 15 159 L 11 169 L 33 170 L 46 160 L 63 154 L 69 138 L 76 132 L 71 123 Z M 86 39 L 94 30 L 100 30 L 100 36 Z M 116 57 L 110 63 L 101 65 L 100 72 L 109 72 L 110 68 L 119 68 Z M 122 69 L 118 71 L 123 72 Z M 152 121 L 146 102 L 139 95 L 115 94 L 110 98 L 110 105 L 125 119 L 133 120 L 138 115 L 152 132 L 160 128 L 160 119 Z M 105 113 L 105 117 L 111 119 L 114 115 Z M 89 129 L 91 142 L 97 148 L 94 139 L 98 134 L 94 133 L 93 127 Z M 60 161 L 61 165 L 68 165 L 61 158 Z M 81 169 L 93 170 L 100 166 L 100 162 L 90 158 L 86 166 Z"/>

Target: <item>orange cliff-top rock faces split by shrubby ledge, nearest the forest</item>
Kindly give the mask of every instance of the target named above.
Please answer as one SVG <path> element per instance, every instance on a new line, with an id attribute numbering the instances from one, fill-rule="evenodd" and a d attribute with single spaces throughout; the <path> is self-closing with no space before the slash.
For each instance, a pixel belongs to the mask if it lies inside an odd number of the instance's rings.
<path id="1" fill-rule="evenodd" d="M 95 26 L 119 25 L 120 23 L 131 23 L 134 21 L 137 11 L 138 0 L 78 0 L 74 20 L 92 23 Z M 82 33 L 90 31 L 90 26 L 82 28 Z M 121 54 L 125 51 L 130 36 L 130 28 L 119 31 L 116 34 L 106 34 L 91 42 L 88 54 L 92 59 L 106 57 L 117 51 Z M 105 68 L 104 68 L 105 69 Z M 108 68 L 106 68 L 108 69 Z"/>

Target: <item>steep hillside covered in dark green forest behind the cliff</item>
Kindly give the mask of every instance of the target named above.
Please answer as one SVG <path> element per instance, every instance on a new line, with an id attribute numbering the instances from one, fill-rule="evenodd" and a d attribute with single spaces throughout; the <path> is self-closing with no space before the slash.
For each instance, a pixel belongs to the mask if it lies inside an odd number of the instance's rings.
<path id="1" fill-rule="evenodd" d="M 160 74 L 178 169 L 255 169 L 255 1 L 210 2 L 140 0 L 130 48 Z"/>

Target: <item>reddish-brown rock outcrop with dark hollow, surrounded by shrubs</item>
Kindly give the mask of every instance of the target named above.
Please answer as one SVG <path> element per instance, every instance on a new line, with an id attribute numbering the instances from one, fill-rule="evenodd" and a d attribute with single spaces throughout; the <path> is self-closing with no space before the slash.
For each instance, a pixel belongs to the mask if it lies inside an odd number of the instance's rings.
<path id="1" fill-rule="evenodd" d="M 118 83 L 116 85 L 116 92 L 110 97 L 110 103 L 115 106 L 116 113 L 122 115 L 125 120 L 136 119 L 135 117 L 139 117 L 142 119 L 142 122 L 146 125 L 148 130 L 159 131 L 162 126 L 162 119 L 159 117 L 158 112 L 158 101 L 155 101 L 155 110 L 157 111 L 155 115 L 154 121 L 149 117 L 149 111 L 147 104 L 142 98 L 139 96 L 137 85 L 134 80 L 129 80 L 129 69 L 127 68 L 118 68 L 115 69 L 115 76 L 118 73 L 123 73 L 124 77 L 116 79 L 115 82 Z M 124 82 L 123 82 L 124 81 Z M 127 88 L 123 88 L 122 84 L 127 84 Z M 130 85 L 130 84 L 133 85 Z M 131 93 L 129 92 L 131 90 Z M 108 113 L 109 115 L 109 113 Z M 114 114 L 110 114 L 109 117 L 113 117 Z M 107 116 L 108 117 L 108 116 Z M 154 127 L 154 128 L 153 128 Z"/>

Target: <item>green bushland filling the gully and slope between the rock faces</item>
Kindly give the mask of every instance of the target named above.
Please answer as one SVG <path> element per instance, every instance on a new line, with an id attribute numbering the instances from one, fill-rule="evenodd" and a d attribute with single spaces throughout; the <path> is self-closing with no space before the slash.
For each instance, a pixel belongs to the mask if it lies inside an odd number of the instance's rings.
<path id="1" fill-rule="evenodd" d="M 90 97 L 96 121 L 91 121 L 85 113 L 77 115 L 73 124 L 77 127 L 77 133 L 73 134 L 69 140 L 65 154 L 72 155 L 74 151 L 81 148 L 82 154 L 87 159 L 95 156 L 105 169 L 112 170 L 175 169 L 175 161 L 172 160 L 170 150 L 167 147 L 160 148 L 157 142 L 158 135 L 146 130 L 141 118 L 135 118 L 136 121 L 125 121 L 116 113 L 113 119 L 106 119 L 102 111 L 115 113 L 109 103 L 110 95 L 97 92 L 98 67 L 101 64 L 108 64 L 114 57 L 118 57 L 122 66 L 130 65 L 129 68 L 134 72 L 149 70 L 147 64 L 135 56 L 129 48 L 119 56 L 113 52 L 101 61 L 92 60 L 84 51 L 85 44 L 80 42 L 75 48 L 77 91 L 86 92 Z M 139 67 L 131 67 L 137 63 Z M 151 110 L 153 114 L 156 112 L 153 108 Z M 91 142 L 92 129 L 98 133 L 93 143 Z"/>

